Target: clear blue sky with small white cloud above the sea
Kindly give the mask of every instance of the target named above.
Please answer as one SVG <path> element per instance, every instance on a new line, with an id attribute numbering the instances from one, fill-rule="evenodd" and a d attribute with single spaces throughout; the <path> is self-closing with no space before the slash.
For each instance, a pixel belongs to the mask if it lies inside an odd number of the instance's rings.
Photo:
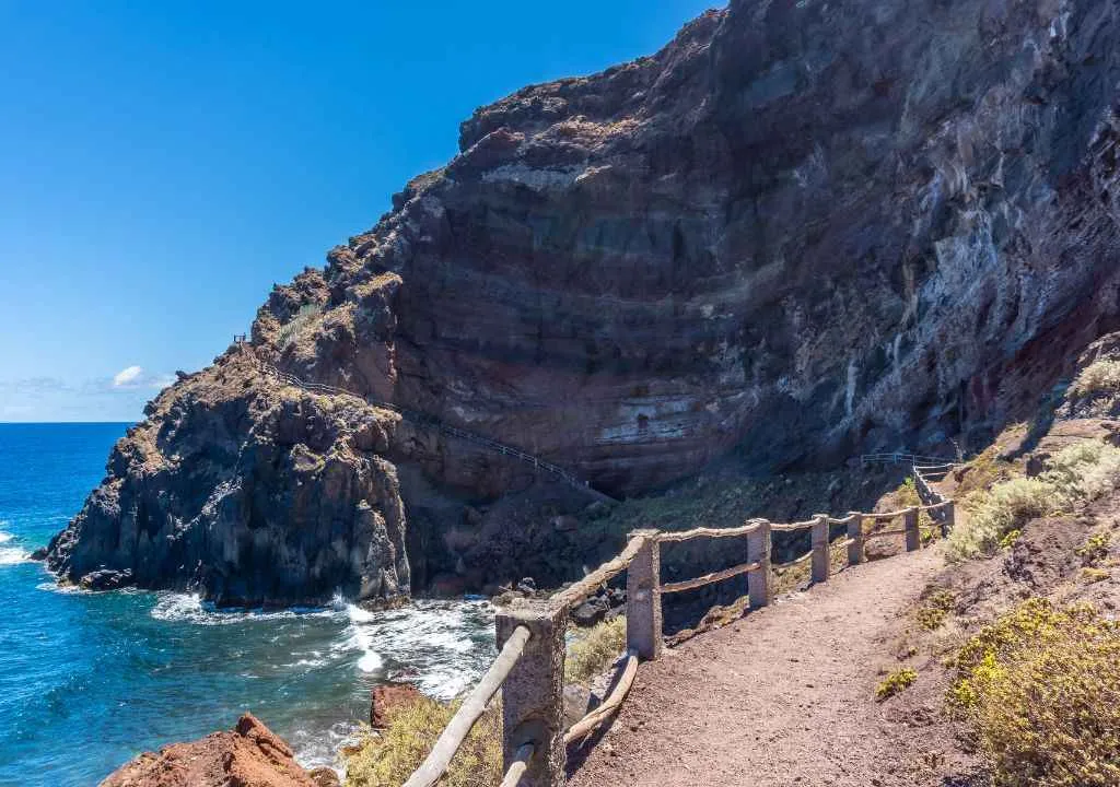
<path id="1" fill-rule="evenodd" d="M 0 421 L 131 421 L 517 87 L 717 2 L 0 0 Z"/>

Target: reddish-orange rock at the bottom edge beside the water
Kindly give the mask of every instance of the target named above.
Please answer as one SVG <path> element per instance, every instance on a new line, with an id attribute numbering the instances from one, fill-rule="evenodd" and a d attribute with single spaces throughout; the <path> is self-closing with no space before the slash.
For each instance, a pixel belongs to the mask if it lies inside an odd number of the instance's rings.
<path id="1" fill-rule="evenodd" d="M 320 769 L 321 770 L 321 769 Z M 334 778 L 332 778 L 334 777 Z M 288 744 L 251 713 L 230 732 L 144 752 L 101 787 L 327 787 L 333 774 L 308 774 Z"/>

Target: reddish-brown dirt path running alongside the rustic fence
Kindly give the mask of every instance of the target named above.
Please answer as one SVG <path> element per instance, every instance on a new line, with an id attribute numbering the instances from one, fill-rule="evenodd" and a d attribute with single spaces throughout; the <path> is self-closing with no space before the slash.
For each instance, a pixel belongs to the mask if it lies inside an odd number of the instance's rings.
<path id="1" fill-rule="evenodd" d="M 923 784 L 915 734 L 874 693 L 892 624 L 940 565 L 935 549 L 865 564 L 666 650 L 569 784 Z"/>

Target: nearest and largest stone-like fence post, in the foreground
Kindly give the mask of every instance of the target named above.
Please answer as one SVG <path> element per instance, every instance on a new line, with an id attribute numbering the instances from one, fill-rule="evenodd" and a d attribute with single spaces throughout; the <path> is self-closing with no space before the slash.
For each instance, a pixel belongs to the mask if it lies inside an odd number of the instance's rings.
<path id="1" fill-rule="evenodd" d="M 562 787 L 567 749 L 563 742 L 563 659 L 567 607 L 523 599 L 497 613 L 498 648 L 517 626 L 529 628 L 529 641 L 502 685 L 502 741 L 508 770 L 517 750 L 533 746 L 521 787 Z"/>

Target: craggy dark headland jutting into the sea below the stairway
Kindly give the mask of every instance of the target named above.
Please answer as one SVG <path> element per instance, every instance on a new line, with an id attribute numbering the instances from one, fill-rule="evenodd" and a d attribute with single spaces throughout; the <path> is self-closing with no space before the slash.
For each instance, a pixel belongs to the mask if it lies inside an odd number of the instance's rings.
<path id="1" fill-rule="evenodd" d="M 92 589 L 190 589 L 222 605 L 407 594 L 404 509 L 379 453 L 395 419 L 281 387 L 231 352 L 149 405 L 48 564 Z"/>

